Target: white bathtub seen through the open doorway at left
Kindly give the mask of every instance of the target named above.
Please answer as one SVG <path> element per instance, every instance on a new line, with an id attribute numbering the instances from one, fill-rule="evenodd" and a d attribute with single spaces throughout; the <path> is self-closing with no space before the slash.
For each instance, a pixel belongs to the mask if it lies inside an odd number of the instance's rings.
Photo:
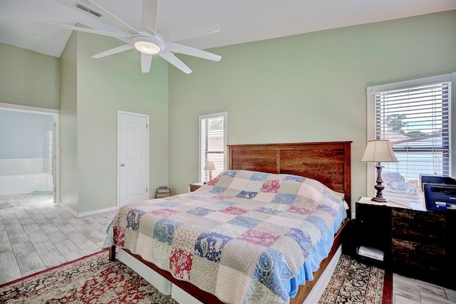
<path id="1" fill-rule="evenodd" d="M 52 174 L 42 168 L 43 159 L 0 159 L 0 195 L 53 191 Z"/>

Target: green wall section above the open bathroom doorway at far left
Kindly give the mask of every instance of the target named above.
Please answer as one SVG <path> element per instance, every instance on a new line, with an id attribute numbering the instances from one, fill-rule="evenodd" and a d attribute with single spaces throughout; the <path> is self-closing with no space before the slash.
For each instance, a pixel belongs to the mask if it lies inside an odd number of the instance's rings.
<path id="1" fill-rule="evenodd" d="M 59 109 L 58 58 L 0 43 L 0 103 Z"/>

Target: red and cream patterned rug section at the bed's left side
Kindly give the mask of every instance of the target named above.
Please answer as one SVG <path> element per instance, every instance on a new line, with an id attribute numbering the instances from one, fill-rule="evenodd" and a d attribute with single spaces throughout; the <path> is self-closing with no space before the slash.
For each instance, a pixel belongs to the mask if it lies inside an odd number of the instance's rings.
<path id="1" fill-rule="evenodd" d="M 177 304 L 107 251 L 0 285 L 0 303 Z"/>

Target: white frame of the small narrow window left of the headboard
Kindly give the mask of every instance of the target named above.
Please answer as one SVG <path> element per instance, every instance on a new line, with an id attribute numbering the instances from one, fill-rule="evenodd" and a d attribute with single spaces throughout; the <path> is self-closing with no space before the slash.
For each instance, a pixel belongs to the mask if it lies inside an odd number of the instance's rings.
<path id="1" fill-rule="evenodd" d="M 224 168 L 223 170 L 227 169 L 227 159 L 228 159 L 228 150 L 227 150 L 227 142 L 228 142 L 228 112 L 217 112 L 217 113 L 212 113 L 212 114 L 207 114 L 207 115 L 199 115 L 198 121 L 199 121 L 199 160 L 198 160 L 198 177 L 199 177 L 199 182 L 204 182 L 204 164 L 205 162 L 205 142 L 202 138 L 202 132 L 203 132 L 203 125 L 202 121 L 208 118 L 214 118 L 214 117 L 223 117 L 223 145 L 224 145 L 224 158 L 223 158 L 223 164 Z"/>

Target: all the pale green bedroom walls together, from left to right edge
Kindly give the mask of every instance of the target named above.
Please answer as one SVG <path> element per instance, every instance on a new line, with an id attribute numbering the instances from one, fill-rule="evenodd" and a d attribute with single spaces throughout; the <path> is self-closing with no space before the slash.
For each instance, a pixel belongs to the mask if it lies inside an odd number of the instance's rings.
<path id="1" fill-rule="evenodd" d="M 209 50 L 219 63 L 180 56 L 190 75 L 158 57 L 143 75 L 134 51 L 90 58 L 118 43 L 73 33 L 61 62 L 0 43 L 0 103 L 61 108 L 63 204 L 115 206 L 117 110 L 150 115 L 150 197 L 197 181 L 198 115 L 228 111 L 229 144 L 353 141 L 356 199 L 366 86 L 455 71 L 456 11 Z"/>

